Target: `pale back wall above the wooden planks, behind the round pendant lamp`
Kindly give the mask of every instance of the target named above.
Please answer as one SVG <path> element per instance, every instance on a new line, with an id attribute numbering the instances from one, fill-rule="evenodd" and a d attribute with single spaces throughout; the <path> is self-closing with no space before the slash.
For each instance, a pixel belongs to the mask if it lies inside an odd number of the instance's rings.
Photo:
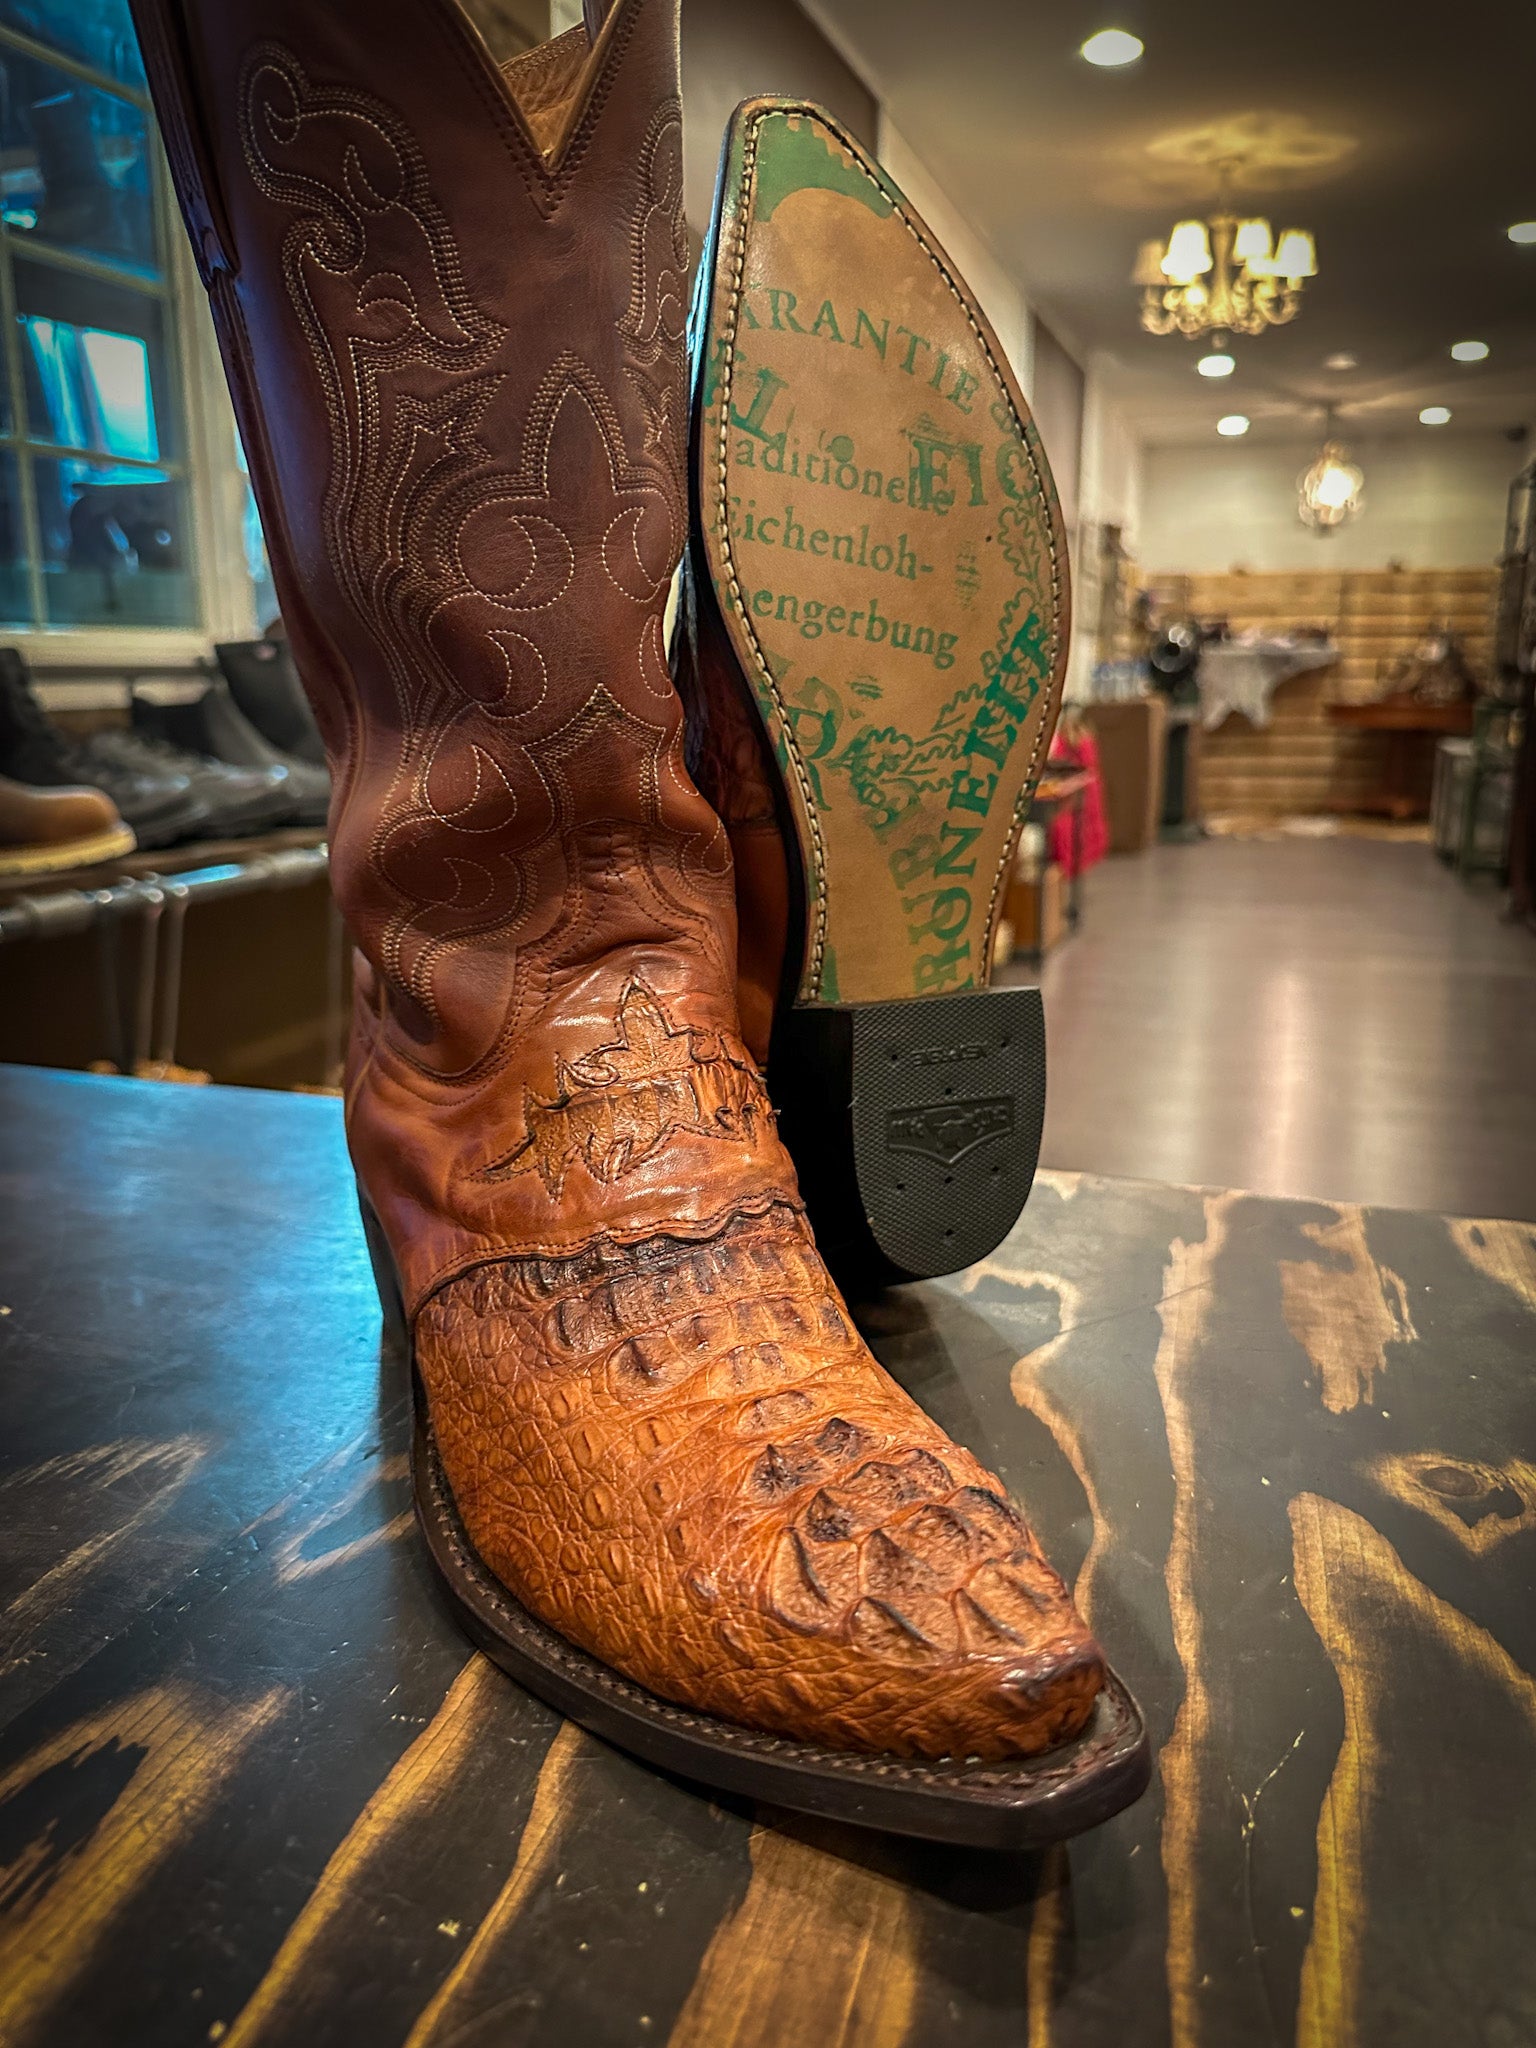
<path id="1" fill-rule="evenodd" d="M 1227 569 L 1473 569 L 1503 541 L 1509 479 L 1528 459 L 1497 434 L 1350 440 L 1366 502 L 1321 539 L 1296 518 L 1319 442 L 1147 449 L 1137 557 L 1155 573 Z"/>

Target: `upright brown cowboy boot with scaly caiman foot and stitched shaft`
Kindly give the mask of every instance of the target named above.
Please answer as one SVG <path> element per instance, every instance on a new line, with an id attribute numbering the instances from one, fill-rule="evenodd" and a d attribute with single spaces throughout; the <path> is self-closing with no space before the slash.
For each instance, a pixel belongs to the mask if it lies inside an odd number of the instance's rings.
<path id="1" fill-rule="evenodd" d="M 354 934 L 346 1087 L 461 1618 L 637 1753 L 967 1841 L 1147 1774 L 1022 1516 L 879 1370 L 735 1008 L 662 643 L 676 0 L 135 0 Z"/>

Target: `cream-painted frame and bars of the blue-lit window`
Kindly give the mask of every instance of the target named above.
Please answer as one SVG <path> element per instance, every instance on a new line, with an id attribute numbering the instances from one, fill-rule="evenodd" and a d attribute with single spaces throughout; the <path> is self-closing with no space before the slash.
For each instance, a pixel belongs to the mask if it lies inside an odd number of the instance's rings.
<path id="1" fill-rule="evenodd" d="M 193 252 L 182 227 L 180 209 L 170 182 L 170 166 L 160 141 L 160 125 L 150 94 L 139 86 L 111 78 L 82 63 L 68 51 L 0 23 L 0 51 L 16 55 L 80 80 L 96 92 L 109 92 L 139 109 L 145 119 L 150 147 L 150 195 L 156 252 L 162 258 L 158 279 L 135 276 L 106 260 L 76 254 L 49 242 L 33 242 L 0 221 L 0 322 L 6 332 L 6 356 L 0 381 L 10 397 L 12 430 L 0 434 L 0 449 L 16 457 L 18 473 L 18 535 L 25 549 L 25 569 L 37 612 L 35 623 L 0 625 L 0 639 L 14 641 L 37 670 L 106 668 L 115 662 L 143 670 L 156 664 L 186 668 L 207 657 L 215 641 L 250 639 L 256 633 L 256 586 L 252 584 L 244 549 L 246 477 L 238 459 L 236 422 L 223 381 L 213 322 L 207 311 Z M 94 276 L 119 289 L 137 291 L 162 307 L 166 381 L 176 408 L 174 459 L 121 467 L 143 467 L 174 477 L 182 485 L 186 506 L 186 551 L 199 618 L 184 627 L 113 625 L 51 625 L 45 621 L 45 569 L 41 522 L 31 483 L 31 461 L 47 457 L 82 459 L 86 451 L 61 449 L 33 438 L 27 422 L 27 391 L 20 346 L 16 340 L 16 258 L 33 260 L 74 276 Z M 23 457 L 20 451 L 29 451 Z M 119 461 L 119 459 L 113 459 Z M 80 686 L 70 690 L 78 698 Z M 106 686 L 102 702 L 117 692 Z"/>

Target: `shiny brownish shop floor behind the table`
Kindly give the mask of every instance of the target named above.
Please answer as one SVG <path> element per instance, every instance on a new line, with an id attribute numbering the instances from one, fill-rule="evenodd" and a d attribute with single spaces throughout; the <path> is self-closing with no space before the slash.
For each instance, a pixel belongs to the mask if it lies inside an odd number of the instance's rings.
<path id="1" fill-rule="evenodd" d="M 1536 1219 L 1536 940 L 1427 846 L 1108 860 L 1042 983 L 1047 1165 Z"/>

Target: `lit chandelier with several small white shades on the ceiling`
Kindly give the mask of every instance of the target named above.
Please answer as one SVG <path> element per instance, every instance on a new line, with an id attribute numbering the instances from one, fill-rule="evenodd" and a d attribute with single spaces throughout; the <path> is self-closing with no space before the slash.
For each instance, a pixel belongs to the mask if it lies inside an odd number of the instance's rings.
<path id="1" fill-rule="evenodd" d="M 1237 219 L 1227 207 L 1229 168 L 1208 221 L 1180 221 L 1167 242 L 1141 244 L 1130 281 L 1141 285 L 1149 334 L 1264 334 L 1300 311 L 1317 246 L 1305 227 L 1286 227 L 1276 242 L 1268 221 Z"/>

